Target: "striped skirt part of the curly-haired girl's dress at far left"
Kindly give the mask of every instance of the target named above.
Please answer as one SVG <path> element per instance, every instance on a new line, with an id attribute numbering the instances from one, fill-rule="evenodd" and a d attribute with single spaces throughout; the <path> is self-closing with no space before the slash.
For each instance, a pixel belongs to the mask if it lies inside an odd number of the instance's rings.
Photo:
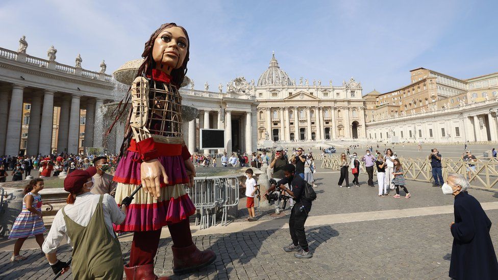
<path id="1" fill-rule="evenodd" d="M 30 237 L 44 234 L 45 232 L 43 218 L 28 210 L 23 210 L 12 225 L 9 239 Z"/>

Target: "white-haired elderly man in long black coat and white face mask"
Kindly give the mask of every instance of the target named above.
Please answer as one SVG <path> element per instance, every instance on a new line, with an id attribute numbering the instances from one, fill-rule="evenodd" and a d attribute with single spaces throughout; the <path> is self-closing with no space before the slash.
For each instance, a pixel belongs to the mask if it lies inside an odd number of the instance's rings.
<path id="1" fill-rule="evenodd" d="M 450 173 L 441 187 L 455 197 L 455 222 L 450 225 L 453 248 L 449 276 L 453 279 L 496 279 L 498 262 L 489 236 L 491 221 L 461 174 Z M 494 275 L 494 276 L 493 276 Z"/>

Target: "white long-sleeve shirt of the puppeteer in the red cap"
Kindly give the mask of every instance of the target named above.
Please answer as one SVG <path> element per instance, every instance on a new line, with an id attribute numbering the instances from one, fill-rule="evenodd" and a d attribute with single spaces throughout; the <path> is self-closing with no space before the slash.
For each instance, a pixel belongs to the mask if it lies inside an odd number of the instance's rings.
<path id="1" fill-rule="evenodd" d="M 74 204 L 68 204 L 64 207 L 64 212 L 66 213 L 67 217 L 69 217 L 77 224 L 87 226 L 93 216 L 93 213 L 95 212 L 99 198 L 99 194 L 93 194 L 90 192 L 80 194 L 76 196 Z M 111 234 L 111 236 L 115 236 L 114 230 L 112 228 L 112 223 L 121 224 L 124 221 L 126 215 L 121 212 L 121 210 L 117 207 L 116 201 L 109 194 L 104 194 L 102 203 L 104 205 L 104 221 L 106 223 L 107 230 L 109 231 L 109 234 Z M 52 227 L 50 228 L 50 231 L 48 232 L 48 235 L 43 242 L 43 252 L 55 252 L 64 237 L 67 237 L 67 244 L 71 245 L 71 240 L 67 235 L 64 215 L 62 214 L 62 209 L 60 209 L 55 215 L 54 221 L 52 222 Z"/>

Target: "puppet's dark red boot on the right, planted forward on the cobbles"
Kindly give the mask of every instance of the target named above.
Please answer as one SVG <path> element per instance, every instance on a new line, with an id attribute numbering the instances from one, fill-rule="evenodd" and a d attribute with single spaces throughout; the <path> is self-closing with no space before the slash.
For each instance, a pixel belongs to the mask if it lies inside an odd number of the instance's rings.
<path id="1" fill-rule="evenodd" d="M 188 247 L 175 248 L 173 251 L 173 273 L 183 274 L 203 268 L 216 260 L 216 254 L 211 250 L 200 251 L 195 244 Z"/>

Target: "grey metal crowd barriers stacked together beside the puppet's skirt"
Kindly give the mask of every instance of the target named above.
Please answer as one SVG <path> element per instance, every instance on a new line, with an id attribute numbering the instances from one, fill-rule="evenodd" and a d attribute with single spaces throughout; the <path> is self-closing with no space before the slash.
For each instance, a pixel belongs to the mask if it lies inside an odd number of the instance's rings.
<path id="1" fill-rule="evenodd" d="M 200 229 L 216 225 L 221 212 L 221 224 L 227 225 L 228 208 L 239 203 L 239 179 L 236 176 L 195 177 L 192 188 L 185 187 L 197 209 L 195 225 Z"/>

